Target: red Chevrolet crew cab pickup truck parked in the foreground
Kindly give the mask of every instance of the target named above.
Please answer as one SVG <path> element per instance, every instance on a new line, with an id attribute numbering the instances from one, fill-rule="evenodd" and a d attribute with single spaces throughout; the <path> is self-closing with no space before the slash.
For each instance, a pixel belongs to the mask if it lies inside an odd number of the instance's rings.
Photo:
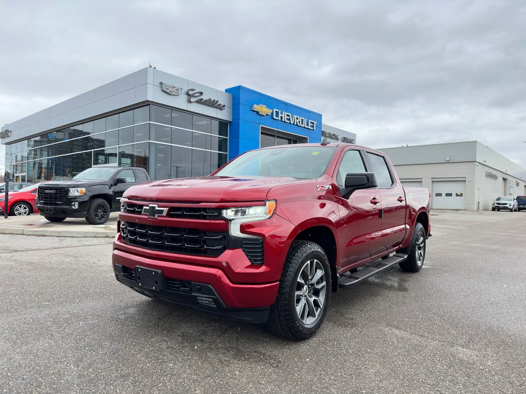
<path id="1" fill-rule="evenodd" d="M 429 197 L 404 189 L 384 153 L 355 144 L 249 151 L 208 177 L 128 189 L 114 273 L 161 302 L 306 339 L 331 292 L 393 264 L 420 270 Z"/>

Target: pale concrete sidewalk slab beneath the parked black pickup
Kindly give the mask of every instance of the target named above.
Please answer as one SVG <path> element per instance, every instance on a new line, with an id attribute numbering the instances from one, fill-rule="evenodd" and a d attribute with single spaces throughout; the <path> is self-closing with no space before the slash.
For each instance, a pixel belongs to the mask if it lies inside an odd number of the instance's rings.
<path id="1" fill-rule="evenodd" d="M 52 223 L 41 215 L 0 217 L 0 234 L 47 235 L 56 237 L 107 237 L 117 234 L 118 212 L 113 212 L 102 225 L 93 225 L 85 219 L 66 219 Z"/>

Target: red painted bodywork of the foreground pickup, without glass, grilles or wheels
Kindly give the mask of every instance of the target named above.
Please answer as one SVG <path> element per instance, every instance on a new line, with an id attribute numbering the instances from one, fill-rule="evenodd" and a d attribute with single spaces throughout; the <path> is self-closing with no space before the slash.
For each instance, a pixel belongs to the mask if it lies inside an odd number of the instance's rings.
<path id="1" fill-rule="evenodd" d="M 227 209 L 264 205 L 267 200 L 275 200 L 276 210 L 268 220 L 240 225 L 242 234 L 262 240 L 263 264 L 252 264 L 241 248 L 227 249 L 218 257 L 160 252 L 128 245 L 120 239 L 120 234 L 114 242 L 114 264 L 131 269 L 138 264 L 160 269 L 167 278 L 213 286 L 228 307 L 260 308 L 275 302 L 288 250 L 302 231 L 325 227 L 325 231 L 332 233 L 335 258 L 330 263 L 340 273 L 407 246 L 418 215 L 423 213 L 429 223 L 427 189 L 404 190 L 387 159 L 395 179 L 390 188 L 356 190 L 348 199 L 342 198 L 342 186 L 335 177 L 343 152 L 357 149 L 383 157 L 385 154 L 350 144 L 330 146 L 337 147 L 336 152 L 325 174 L 318 179 L 245 179 L 213 174 L 150 182 L 133 186 L 124 194 L 124 203 L 156 204 L 159 208 Z M 232 235 L 226 219 L 152 219 L 147 215 L 120 213 L 119 220 L 204 232 L 230 232 L 230 236 L 237 237 Z M 429 229 L 428 225 L 427 235 Z"/>

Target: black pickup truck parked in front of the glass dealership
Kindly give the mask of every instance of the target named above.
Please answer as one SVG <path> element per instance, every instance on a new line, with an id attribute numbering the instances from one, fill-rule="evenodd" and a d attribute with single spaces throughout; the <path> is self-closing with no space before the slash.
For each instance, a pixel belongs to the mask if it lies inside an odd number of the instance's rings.
<path id="1" fill-rule="evenodd" d="M 120 210 L 120 199 L 128 188 L 149 180 L 143 168 L 94 165 L 69 181 L 42 183 L 35 203 L 50 222 L 85 217 L 90 224 L 103 224 L 110 212 Z"/>

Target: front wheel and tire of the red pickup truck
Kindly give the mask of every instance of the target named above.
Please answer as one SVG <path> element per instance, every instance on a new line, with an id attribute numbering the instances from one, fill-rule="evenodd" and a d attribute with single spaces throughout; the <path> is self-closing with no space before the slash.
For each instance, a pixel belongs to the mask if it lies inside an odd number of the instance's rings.
<path id="1" fill-rule="evenodd" d="M 316 243 L 294 241 L 270 307 L 269 330 L 287 339 L 307 339 L 320 328 L 331 293 L 329 261 Z"/>

